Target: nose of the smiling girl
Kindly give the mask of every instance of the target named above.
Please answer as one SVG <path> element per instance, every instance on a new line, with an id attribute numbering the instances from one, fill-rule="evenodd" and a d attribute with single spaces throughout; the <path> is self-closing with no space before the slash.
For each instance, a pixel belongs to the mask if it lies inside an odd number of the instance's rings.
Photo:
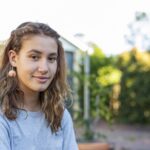
<path id="1" fill-rule="evenodd" d="M 48 72 L 48 62 L 47 60 L 42 60 L 39 62 L 38 71 L 45 74 Z"/>

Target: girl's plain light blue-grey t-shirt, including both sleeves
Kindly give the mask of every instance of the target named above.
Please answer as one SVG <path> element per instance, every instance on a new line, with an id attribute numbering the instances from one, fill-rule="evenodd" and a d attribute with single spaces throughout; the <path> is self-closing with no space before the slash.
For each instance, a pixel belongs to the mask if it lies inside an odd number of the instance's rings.
<path id="1" fill-rule="evenodd" d="M 67 109 L 62 128 L 53 134 L 42 112 L 18 112 L 18 118 L 13 121 L 0 114 L 0 150 L 78 150 Z"/>

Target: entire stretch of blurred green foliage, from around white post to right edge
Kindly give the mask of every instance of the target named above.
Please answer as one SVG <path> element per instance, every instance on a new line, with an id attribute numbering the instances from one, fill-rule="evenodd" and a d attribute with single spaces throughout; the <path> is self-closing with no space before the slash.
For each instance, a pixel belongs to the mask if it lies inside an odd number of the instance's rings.
<path id="1" fill-rule="evenodd" d="M 76 73 L 80 83 L 78 119 L 83 119 L 83 89 L 84 82 L 88 82 L 90 120 L 150 123 L 150 53 L 133 48 L 119 56 L 106 57 L 98 46 L 93 49 L 90 76 L 85 77 L 83 63 L 81 72 Z"/>

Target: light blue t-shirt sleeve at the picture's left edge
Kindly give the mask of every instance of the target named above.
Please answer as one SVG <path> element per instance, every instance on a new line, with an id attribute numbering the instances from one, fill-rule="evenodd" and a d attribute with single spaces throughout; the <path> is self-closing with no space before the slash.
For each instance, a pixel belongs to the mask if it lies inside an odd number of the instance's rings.
<path id="1" fill-rule="evenodd" d="M 0 114 L 0 150 L 11 150 L 8 130 L 9 126 L 4 116 Z"/>

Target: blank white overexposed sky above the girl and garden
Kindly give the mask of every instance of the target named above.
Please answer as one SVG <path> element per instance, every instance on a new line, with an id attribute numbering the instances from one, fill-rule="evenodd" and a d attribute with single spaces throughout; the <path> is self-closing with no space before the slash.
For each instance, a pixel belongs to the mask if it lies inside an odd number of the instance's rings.
<path id="1" fill-rule="evenodd" d="M 84 33 L 106 54 L 128 50 L 127 24 L 136 11 L 150 10 L 150 0 L 0 0 L 0 4 L 0 40 L 24 21 L 39 21 L 64 34 Z"/>

